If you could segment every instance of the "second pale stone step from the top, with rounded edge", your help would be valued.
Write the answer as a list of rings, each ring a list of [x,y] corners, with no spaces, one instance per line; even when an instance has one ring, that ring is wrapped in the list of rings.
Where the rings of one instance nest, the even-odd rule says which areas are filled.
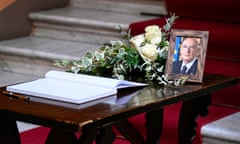
[[[29,14],[33,36],[103,44],[119,40],[119,26],[127,31],[130,23],[156,18],[139,14],[65,7]]]

